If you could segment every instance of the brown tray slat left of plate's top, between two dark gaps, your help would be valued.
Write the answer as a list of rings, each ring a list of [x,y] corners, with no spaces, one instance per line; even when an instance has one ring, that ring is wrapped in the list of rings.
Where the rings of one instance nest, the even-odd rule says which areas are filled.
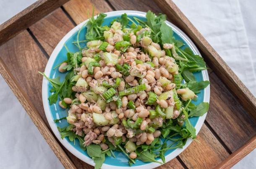
[[[74,25],[63,10],[58,8],[29,28],[47,54],[51,55],[55,46]]]

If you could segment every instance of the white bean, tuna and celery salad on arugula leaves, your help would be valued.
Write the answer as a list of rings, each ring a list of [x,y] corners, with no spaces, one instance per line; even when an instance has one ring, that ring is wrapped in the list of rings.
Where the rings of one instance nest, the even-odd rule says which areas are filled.
[[[39,72],[52,85],[50,105],[59,98],[59,106],[67,110],[64,118],[54,121],[68,122],[58,127],[62,139],[78,139],[95,169],[105,156],[115,158],[113,151],[122,151],[129,165],[136,160],[165,163],[167,150],[196,138],[189,117],[209,109],[209,103],[192,103],[209,85],[193,75],[206,64],[175,40],[166,15],[148,11],[146,20],[140,20],[124,13],[102,25],[106,16],[100,13],[82,26],[87,33],[79,40],[78,31],[76,53],[65,46],[67,59],[57,66],[66,73],[63,82]]]

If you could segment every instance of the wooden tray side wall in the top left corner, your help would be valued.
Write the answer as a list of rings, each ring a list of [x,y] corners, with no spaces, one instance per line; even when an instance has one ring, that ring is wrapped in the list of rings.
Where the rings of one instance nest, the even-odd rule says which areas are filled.
[[[0,45],[28,28],[68,0],[38,0],[0,25]]]

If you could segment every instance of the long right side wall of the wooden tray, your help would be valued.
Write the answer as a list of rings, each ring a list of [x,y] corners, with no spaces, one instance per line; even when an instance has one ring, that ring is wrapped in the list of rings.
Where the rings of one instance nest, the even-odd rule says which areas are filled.
[[[219,54],[212,48],[206,39],[199,33],[193,24],[185,17],[171,0],[154,0],[181,30],[183,30],[196,46],[201,50],[203,58],[210,68],[219,76],[230,91],[237,96],[243,107],[256,119],[256,98],[240,81],[235,73],[227,66]]]

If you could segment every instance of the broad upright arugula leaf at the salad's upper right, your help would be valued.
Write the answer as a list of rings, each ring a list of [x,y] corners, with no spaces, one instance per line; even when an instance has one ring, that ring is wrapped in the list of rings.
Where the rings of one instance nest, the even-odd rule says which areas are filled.
[[[174,43],[173,40],[173,32],[172,32],[172,28],[170,28],[170,26],[168,26],[165,22],[162,23],[161,27],[161,40],[162,40],[162,44],[164,43]]]

